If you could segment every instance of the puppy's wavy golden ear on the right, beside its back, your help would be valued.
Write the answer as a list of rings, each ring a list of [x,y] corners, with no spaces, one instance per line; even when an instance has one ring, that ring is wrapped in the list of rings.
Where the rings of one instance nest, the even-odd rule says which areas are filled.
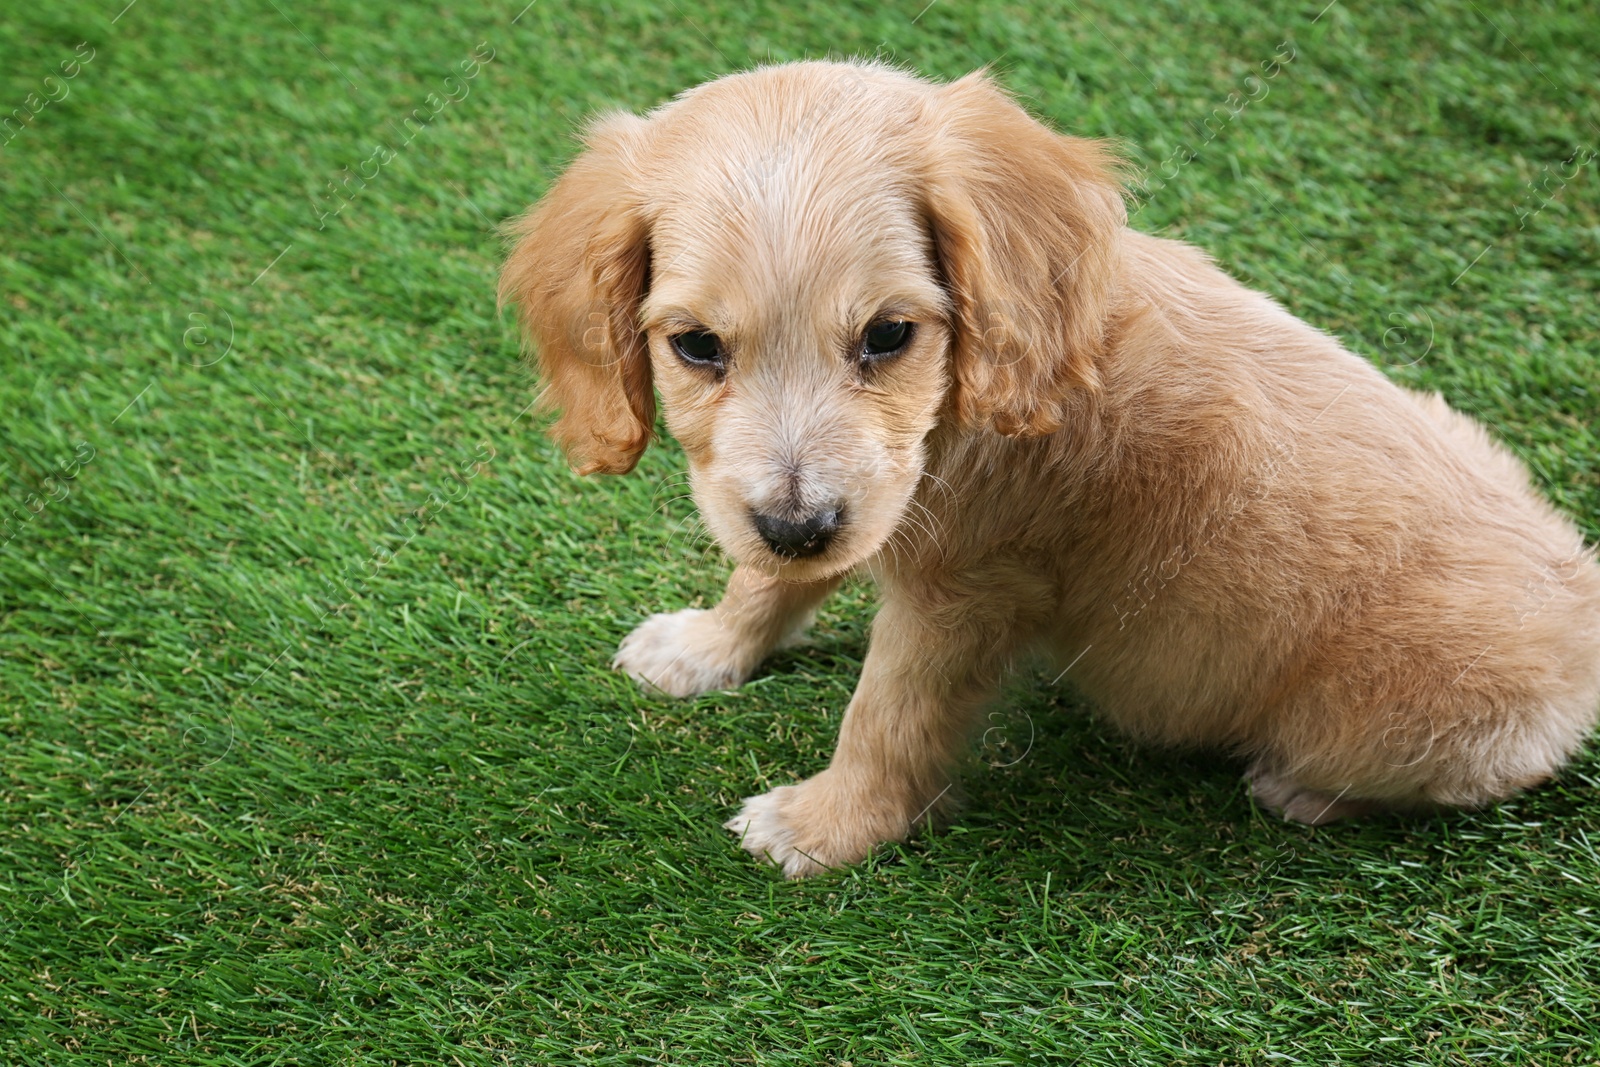
[[[1051,434],[1096,357],[1128,221],[1115,157],[1054,133],[982,72],[933,102],[926,203],[955,304],[952,405],[973,427]]]

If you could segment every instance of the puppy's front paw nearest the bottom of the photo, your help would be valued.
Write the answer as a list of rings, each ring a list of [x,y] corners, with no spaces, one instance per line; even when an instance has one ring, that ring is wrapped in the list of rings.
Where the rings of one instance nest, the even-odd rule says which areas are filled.
[[[784,877],[808,878],[866,859],[874,845],[904,841],[915,829],[907,806],[909,798],[894,789],[838,790],[824,771],[798,785],[746,797],[739,814],[723,827],[739,835],[744,851],[781,867]]]

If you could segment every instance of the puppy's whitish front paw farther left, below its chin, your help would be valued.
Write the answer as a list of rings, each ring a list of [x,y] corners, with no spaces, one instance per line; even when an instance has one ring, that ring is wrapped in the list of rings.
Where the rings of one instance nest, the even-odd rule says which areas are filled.
[[[736,635],[710,611],[653,614],[622,638],[611,665],[669,696],[731,689],[754,664],[738,654]]]

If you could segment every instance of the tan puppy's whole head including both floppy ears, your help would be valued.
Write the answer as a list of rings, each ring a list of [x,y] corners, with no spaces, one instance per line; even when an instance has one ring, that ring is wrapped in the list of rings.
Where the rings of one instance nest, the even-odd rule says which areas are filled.
[[[938,427],[1064,426],[1123,222],[1101,147],[982,75],[803,62],[590,126],[501,299],[579,472],[632,469],[659,390],[722,545],[805,581],[894,533]]]

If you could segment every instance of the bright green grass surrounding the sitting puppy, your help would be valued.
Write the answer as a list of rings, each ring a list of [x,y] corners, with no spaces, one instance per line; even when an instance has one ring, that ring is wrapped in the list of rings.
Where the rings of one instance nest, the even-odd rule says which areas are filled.
[[[494,314],[493,227],[592,110],[994,62],[1150,171],[1198,149],[1136,226],[1443,390],[1595,539],[1600,181],[1549,174],[1600,149],[1600,18],[1323,2],[13,5],[0,114],[67,93],[0,147],[0,1061],[1600,1056],[1594,747],[1312,830],[1022,678],[949,835],[755,867],[718,824],[822,766],[870,590],[736,693],[611,673],[726,568],[672,443],[566,472]]]

